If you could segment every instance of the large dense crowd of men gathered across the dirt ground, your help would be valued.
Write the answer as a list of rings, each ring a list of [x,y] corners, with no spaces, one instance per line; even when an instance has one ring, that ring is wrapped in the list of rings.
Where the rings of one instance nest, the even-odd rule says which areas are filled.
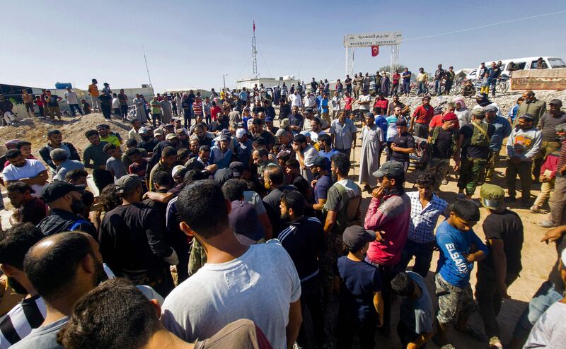
[[[328,81],[317,90],[314,78],[316,95],[294,86],[157,95],[136,104],[127,139],[108,124],[86,130],[82,154],[57,129],[41,160],[30,142],[8,141],[0,165],[15,212],[0,233],[9,302],[0,348],[351,348],[356,336],[374,348],[376,329],[387,338],[393,326],[403,348],[454,348],[453,330],[503,348],[497,314],[522,268],[524,227],[506,208],[517,176],[522,206],[541,212],[550,196],[540,224],[553,227],[543,240],[556,242],[558,259],[509,348],[562,345],[562,102],[527,91],[502,114],[486,94],[471,109],[456,97],[443,110],[425,96],[410,110],[398,95],[371,97],[363,81],[352,97],[348,79],[331,99]],[[111,118],[93,85],[92,108]],[[503,146],[507,193],[492,183]],[[411,164],[416,190],[406,189]],[[456,177],[447,202],[442,186]],[[535,182],[543,189],[532,203]],[[485,239],[473,230],[480,206]],[[468,324],[476,311],[484,329]]]

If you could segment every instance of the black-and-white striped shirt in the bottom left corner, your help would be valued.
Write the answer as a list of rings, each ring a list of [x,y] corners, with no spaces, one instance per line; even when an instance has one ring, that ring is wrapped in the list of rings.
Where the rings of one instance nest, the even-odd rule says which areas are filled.
[[[25,298],[0,322],[0,349],[9,348],[37,329],[45,319],[47,309],[40,295]]]

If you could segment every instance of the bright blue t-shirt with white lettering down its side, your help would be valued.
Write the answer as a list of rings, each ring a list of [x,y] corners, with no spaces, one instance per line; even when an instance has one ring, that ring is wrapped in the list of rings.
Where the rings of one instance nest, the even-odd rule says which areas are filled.
[[[473,263],[469,263],[463,254],[470,253],[472,244],[483,253],[489,253],[473,230],[463,232],[451,226],[448,220],[444,220],[437,227],[437,245],[440,249],[437,273],[440,273],[447,283],[458,288],[470,284]]]

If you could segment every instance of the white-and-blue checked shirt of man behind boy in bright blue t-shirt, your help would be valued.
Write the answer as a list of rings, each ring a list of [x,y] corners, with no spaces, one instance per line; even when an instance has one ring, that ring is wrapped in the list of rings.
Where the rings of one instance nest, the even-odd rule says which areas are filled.
[[[434,227],[437,226],[439,215],[444,215],[448,203],[432,194],[432,200],[423,208],[418,191],[411,191],[407,195],[411,199],[409,239],[418,244],[434,241]]]

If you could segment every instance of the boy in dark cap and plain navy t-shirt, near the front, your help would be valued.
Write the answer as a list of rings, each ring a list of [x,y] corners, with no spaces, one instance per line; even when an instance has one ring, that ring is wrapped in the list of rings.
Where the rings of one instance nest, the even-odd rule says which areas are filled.
[[[375,347],[376,326],[383,324],[383,297],[379,270],[364,261],[369,242],[376,233],[359,225],[347,227],[342,235],[348,249],[335,264],[335,290],[339,295],[337,348],[350,349],[354,333],[360,348]]]

